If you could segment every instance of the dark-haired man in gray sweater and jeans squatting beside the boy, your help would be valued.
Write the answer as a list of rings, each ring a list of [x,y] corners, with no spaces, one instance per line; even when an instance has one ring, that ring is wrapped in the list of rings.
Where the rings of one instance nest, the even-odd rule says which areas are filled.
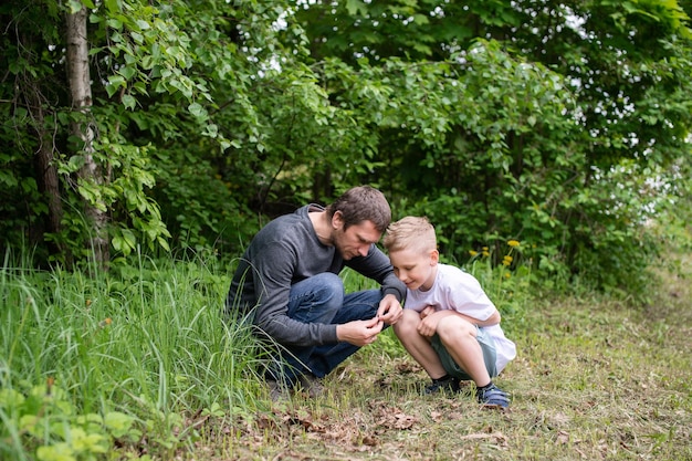
[[[298,383],[316,397],[321,378],[401,317],[406,285],[376,247],[390,221],[385,196],[360,186],[327,208],[307,205],[276,218],[250,242],[226,308],[254,307],[254,325],[279,345],[265,374],[272,399]],[[345,294],[344,266],[380,290]]]

